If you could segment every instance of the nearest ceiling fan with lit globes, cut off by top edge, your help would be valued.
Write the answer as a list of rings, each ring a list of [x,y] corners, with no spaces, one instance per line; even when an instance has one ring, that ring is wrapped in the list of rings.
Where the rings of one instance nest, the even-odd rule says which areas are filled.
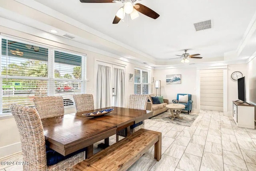
[[[137,18],[139,16],[139,13],[142,13],[150,18],[156,19],[160,15],[151,10],[150,8],[137,3],[135,4],[137,0],[80,0],[80,2],[84,3],[112,3],[112,2],[120,2],[123,4],[121,8],[116,13],[116,16],[113,20],[113,24],[118,24],[120,20],[123,20],[125,17],[125,14],[130,14],[130,17],[132,20]]]

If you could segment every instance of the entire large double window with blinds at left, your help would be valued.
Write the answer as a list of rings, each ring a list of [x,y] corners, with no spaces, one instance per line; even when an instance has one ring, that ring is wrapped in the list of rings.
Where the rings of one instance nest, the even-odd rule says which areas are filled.
[[[34,106],[36,96],[61,95],[65,106],[74,105],[72,95],[81,94],[85,87],[85,56],[8,38],[0,40],[0,114],[10,113],[12,103]]]

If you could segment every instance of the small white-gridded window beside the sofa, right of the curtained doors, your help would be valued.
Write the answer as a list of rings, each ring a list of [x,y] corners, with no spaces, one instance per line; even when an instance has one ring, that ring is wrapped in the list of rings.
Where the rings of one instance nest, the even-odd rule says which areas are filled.
[[[148,94],[149,93],[149,72],[134,69],[134,94]]]

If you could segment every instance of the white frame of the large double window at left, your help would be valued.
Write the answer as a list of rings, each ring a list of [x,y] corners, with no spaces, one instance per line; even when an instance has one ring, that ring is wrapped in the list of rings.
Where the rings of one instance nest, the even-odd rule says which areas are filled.
[[[47,77],[29,77],[29,76],[8,76],[8,75],[2,75],[2,72],[0,72],[0,93],[3,94],[3,79],[8,78],[8,79],[23,79],[23,80],[47,80],[48,81],[48,96],[53,96],[54,95],[54,81],[78,81],[81,82],[82,87],[81,87],[81,93],[86,93],[86,59],[87,56],[86,54],[82,54],[80,52],[74,52],[72,50],[66,50],[63,48],[59,48],[59,47],[55,47],[55,46],[50,46],[48,44],[42,44],[42,43],[38,43],[38,42],[33,42],[30,40],[22,40],[18,39],[18,38],[13,38],[13,37],[8,37],[8,36],[1,36],[0,35],[0,66],[2,66],[2,39],[6,39],[6,42],[8,41],[14,41],[14,42],[20,42],[20,43],[24,43],[24,44],[30,44],[30,45],[34,45],[34,46],[39,46],[42,48],[47,48],[48,49],[48,64],[47,64],[47,69],[48,69],[48,76]],[[81,68],[82,68],[82,75],[81,75],[81,79],[66,79],[66,78],[54,78],[54,51],[58,51],[58,52],[63,52],[63,53],[67,53],[67,54],[72,54],[72,55],[76,55],[76,56],[81,56],[82,57],[82,64],[81,64]],[[1,68],[2,71],[2,68]],[[0,119],[2,118],[6,118],[8,116],[11,115],[11,113],[2,113],[3,111],[3,96],[1,96],[0,98]],[[69,105],[69,106],[64,106],[65,108],[68,107],[74,107],[74,105]]]

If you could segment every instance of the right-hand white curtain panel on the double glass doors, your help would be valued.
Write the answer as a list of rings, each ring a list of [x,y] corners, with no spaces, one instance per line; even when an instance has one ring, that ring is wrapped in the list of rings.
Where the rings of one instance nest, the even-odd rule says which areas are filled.
[[[114,68],[114,106],[124,107],[124,70]]]

